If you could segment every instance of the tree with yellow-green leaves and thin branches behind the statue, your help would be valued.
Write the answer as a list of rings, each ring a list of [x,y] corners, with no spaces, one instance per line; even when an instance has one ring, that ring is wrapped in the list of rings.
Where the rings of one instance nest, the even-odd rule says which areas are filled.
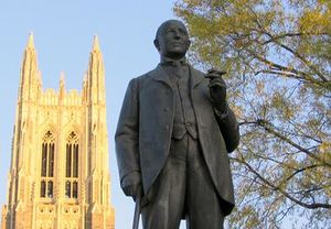
[[[174,12],[191,62],[227,72],[241,122],[229,228],[331,228],[331,1],[180,0]]]

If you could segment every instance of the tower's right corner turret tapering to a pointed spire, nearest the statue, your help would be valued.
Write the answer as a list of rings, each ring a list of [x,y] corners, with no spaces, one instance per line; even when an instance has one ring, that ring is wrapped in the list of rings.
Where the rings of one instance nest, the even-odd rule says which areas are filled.
[[[88,151],[90,155],[90,185],[104,184],[109,179],[108,171],[108,133],[106,120],[105,69],[103,54],[97,36],[94,36],[87,70],[87,109],[88,109]],[[102,150],[99,150],[102,149]],[[108,199],[108,190],[89,193],[93,211],[102,212],[102,206]]]

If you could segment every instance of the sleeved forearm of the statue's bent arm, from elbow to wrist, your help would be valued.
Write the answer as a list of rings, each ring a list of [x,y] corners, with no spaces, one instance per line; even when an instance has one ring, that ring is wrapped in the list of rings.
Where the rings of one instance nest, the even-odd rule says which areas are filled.
[[[220,112],[217,109],[215,109],[215,116],[226,144],[226,150],[228,153],[231,153],[239,144],[239,124],[234,112],[227,105],[225,112]]]

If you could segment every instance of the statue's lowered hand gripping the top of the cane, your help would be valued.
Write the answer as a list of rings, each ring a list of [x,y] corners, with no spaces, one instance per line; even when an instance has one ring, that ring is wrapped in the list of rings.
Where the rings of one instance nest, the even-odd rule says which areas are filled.
[[[141,174],[134,172],[124,177],[121,188],[124,193],[127,196],[131,196],[134,200],[136,200],[137,197],[140,198],[142,195]]]

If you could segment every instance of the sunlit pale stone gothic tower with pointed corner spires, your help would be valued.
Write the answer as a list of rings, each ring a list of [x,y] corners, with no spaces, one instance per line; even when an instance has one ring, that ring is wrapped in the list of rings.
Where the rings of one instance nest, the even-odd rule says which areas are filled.
[[[81,92],[42,89],[24,52],[1,229],[114,229],[103,55],[94,37]]]

